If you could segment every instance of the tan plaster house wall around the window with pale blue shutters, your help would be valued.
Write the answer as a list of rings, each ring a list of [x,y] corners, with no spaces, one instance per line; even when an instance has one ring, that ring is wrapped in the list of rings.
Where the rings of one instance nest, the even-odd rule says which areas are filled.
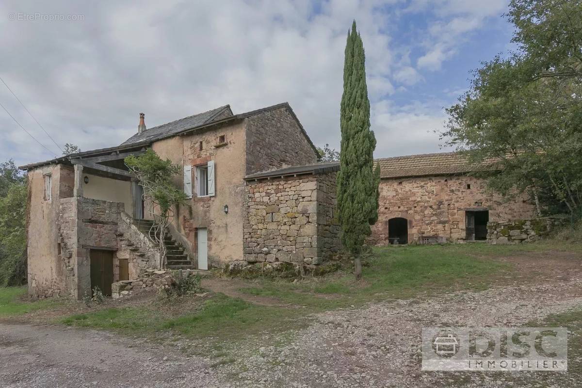
[[[225,136],[225,144],[219,137]],[[203,143],[200,149],[200,142]],[[179,165],[192,166],[193,198],[190,206],[182,206],[173,219],[173,226],[184,237],[178,239],[187,245],[190,257],[196,263],[196,232],[198,227],[208,228],[208,262],[220,266],[224,262],[243,257],[243,197],[245,175],[245,131],[239,122],[215,129],[194,131],[192,134],[173,137],[154,143],[154,151],[162,158]],[[214,161],[215,195],[197,197],[196,166]],[[183,187],[183,177],[176,177]],[[224,212],[228,205],[229,212]],[[179,237],[179,236],[176,236]]]

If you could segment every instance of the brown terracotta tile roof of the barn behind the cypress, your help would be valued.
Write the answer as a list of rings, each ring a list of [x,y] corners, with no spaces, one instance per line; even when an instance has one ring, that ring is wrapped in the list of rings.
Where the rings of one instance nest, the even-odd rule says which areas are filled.
[[[479,163],[470,163],[467,154],[459,152],[439,152],[438,154],[421,154],[395,156],[376,159],[380,165],[382,178],[409,176],[452,175],[494,170],[496,162],[492,159]]]

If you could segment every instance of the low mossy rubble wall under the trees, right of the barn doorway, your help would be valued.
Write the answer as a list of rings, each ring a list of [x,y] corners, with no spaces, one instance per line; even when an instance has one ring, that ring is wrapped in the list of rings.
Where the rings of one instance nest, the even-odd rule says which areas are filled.
[[[487,223],[487,242],[489,244],[520,244],[537,241],[564,223],[565,219],[561,217],[489,222]]]

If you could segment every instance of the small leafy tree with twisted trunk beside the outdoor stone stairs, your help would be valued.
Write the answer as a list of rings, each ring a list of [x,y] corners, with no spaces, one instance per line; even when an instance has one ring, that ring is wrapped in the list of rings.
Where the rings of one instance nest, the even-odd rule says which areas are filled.
[[[182,172],[182,167],[175,165],[169,159],[162,160],[153,149],[149,148],[140,156],[125,158],[126,166],[140,180],[144,198],[153,206],[151,213],[154,219],[151,233],[159,245],[159,268],[166,266],[166,245],[164,237],[170,218],[174,215],[172,207],[186,200],[186,194],[172,183],[172,177]]]

